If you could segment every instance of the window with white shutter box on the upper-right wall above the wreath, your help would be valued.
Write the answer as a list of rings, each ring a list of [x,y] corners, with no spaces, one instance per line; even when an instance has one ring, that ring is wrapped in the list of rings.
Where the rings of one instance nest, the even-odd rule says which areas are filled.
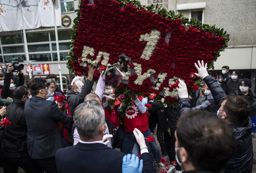
[[[204,23],[204,8],[206,7],[206,2],[201,3],[183,3],[177,4],[177,12],[182,13],[186,16],[188,20],[195,18],[196,20],[201,20]]]

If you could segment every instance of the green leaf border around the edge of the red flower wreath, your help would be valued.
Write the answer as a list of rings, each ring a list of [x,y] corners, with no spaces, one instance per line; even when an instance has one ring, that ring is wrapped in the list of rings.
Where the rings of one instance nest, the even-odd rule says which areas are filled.
[[[80,22],[80,18],[81,18],[81,14],[80,14],[81,0],[79,0],[79,1],[80,1],[80,3],[79,3],[79,9],[77,10],[77,17],[73,20],[73,27],[72,27],[72,31],[71,31],[71,45],[69,48],[70,51],[68,52],[68,56],[67,56],[67,60],[68,60],[67,68],[70,70],[70,72],[73,72],[74,74],[76,74],[76,71],[72,69],[73,66],[69,62],[76,61],[76,57],[74,56],[73,51],[74,51],[74,47],[75,47],[75,43],[76,43],[76,33],[78,32],[77,27],[79,26],[79,22]],[[171,11],[171,10],[168,12],[163,8],[158,8],[158,4],[154,8],[153,4],[151,4],[151,6],[141,5],[140,1],[138,1],[138,0],[116,0],[116,1],[119,3],[122,3],[123,7],[125,7],[128,3],[130,3],[132,6],[136,6],[137,10],[145,9],[146,11],[154,12],[156,14],[161,14],[162,17],[168,17],[170,20],[181,19],[182,24],[186,27],[193,26],[196,29],[199,29],[201,31],[206,31],[206,32],[212,33],[216,36],[223,37],[225,42],[222,45],[222,48],[215,52],[214,59],[210,63],[208,63],[208,69],[214,69],[214,62],[217,61],[218,57],[220,57],[220,52],[224,51],[224,49],[228,46],[228,41],[230,40],[230,38],[229,38],[230,35],[228,35],[227,31],[224,31],[224,29],[216,28],[215,25],[210,26],[207,24],[203,24],[201,22],[201,20],[195,20],[194,18],[192,18],[188,21],[188,20],[186,20],[186,17],[182,13],[175,14],[175,12]],[[201,79],[195,79],[194,82],[195,82],[195,84],[197,84],[199,86],[199,84],[201,84]],[[129,92],[132,92],[135,95],[145,96],[139,92],[128,90],[125,87],[123,87],[122,89],[119,87],[119,89],[116,89],[116,91],[115,91],[116,95],[123,94],[125,96],[128,96]],[[189,94],[192,94],[192,92],[194,92],[194,91],[191,90],[191,92],[189,92]],[[155,98],[155,100],[159,101],[159,102],[160,102],[160,99],[161,99],[160,96]],[[131,100],[126,98],[123,100],[123,104],[125,104],[126,106],[131,105]],[[175,101],[174,103],[168,103],[168,107],[175,107],[176,105],[177,105],[177,101]],[[122,109],[122,112],[124,112],[125,109]]]

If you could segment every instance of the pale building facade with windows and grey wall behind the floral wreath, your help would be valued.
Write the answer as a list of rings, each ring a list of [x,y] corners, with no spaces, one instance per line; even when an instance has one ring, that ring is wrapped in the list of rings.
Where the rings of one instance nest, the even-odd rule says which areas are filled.
[[[158,4],[166,10],[182,12],[188,19],[195,18],[209,25],[227,30],[229,46],[215,62],[211,73],[216,78],[221,67],[238,69],[241,78],[251,78],[255,90],[256,78],[256,1],[255,0],[140,0],[143,5]],[[58,27],[61,72],[68,74],[66,56],[70,46],[70,31],[76,17],[79,0],[61,0],[62,26]],[[57,49],[54,28],[26,31],[29,58],[33,75],[44,75],[45,64],[49,73],[58,74]],[[26,64],[23,33],[0,32],[0,62],[20,61]],[[41,73],[36,74],[36,66]],[[26,69],[24,69],[26,73]]]

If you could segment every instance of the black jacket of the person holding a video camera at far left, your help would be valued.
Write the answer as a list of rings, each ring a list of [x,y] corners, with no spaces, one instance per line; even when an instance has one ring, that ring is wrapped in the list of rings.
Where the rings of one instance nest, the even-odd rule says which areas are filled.
[[[2,98],[13,98],[13,91],[10,90],[10,84],[11,84],[11,73],[6,73],[4,77],[4,82],[3,82],[3,89],[1,92]],[[16,87],[18,86],[23,86],[24,85],[24,75],[23,73],[19,73],[18,75],[18,83],[16,84]]]

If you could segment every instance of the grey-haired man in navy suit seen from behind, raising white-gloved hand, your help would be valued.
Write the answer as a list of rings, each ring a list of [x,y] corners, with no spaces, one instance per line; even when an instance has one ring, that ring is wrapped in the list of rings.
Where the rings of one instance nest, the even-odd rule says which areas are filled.
[[[105,112],[96,100],[78,105],[74,112],[74,124],[80,141],[73,147],[60,149],[56,153],[58,173],[122,173],[124,153],[107,147],[102,138],[106,131]],[[141,149],[143,173],[153,173],[152,157],[148,153],[145,139],[140,131],[135,136]]]

